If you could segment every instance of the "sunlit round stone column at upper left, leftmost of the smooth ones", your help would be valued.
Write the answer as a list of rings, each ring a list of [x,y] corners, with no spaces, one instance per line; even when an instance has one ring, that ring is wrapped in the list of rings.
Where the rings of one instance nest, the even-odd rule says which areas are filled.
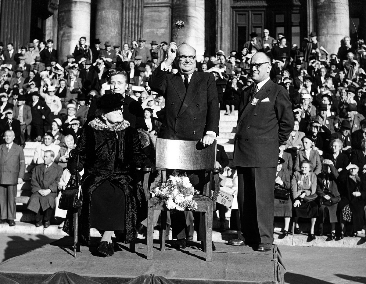
[[[59,63],[74,52],[80,37],[90,44],[90,0],[60,0],[57,52]]]

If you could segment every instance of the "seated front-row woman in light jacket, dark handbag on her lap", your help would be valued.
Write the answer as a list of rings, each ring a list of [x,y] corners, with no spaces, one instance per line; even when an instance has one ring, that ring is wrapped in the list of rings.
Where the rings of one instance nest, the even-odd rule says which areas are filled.
[[[310,240],[315,240],[314,226],[318,216],[317,176],[310,171],[310,163],[303,160],[300,171],[294,172],[291,180],[291,198],[294,201],[292,216],[295,217],[295,234],[300,234],[299,217],[311,218]]]

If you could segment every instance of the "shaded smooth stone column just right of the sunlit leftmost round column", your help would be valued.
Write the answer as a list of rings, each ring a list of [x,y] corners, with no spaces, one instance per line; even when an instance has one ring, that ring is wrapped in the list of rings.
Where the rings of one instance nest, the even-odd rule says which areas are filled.
[[[121,0],[98,0],[96,13],[96,39],[102,42],[109,41],[112,44],[121,44],[122,25]]]

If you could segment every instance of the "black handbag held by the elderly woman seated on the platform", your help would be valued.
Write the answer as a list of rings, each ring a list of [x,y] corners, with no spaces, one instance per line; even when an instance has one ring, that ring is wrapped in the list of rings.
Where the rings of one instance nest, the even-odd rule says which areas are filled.
[[[65,190],[61,193],[59,208],[63,210],[80,209],[83,205],[83,193],[79,173],[72,175]]]

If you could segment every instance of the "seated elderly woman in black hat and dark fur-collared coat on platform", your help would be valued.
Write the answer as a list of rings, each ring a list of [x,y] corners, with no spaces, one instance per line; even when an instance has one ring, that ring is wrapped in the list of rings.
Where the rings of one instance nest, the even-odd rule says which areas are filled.
[[[126,90],[126,80],[120,84]],[[123,119],[124,105],[120,93],[98,99],[96,117],[83,129],[67,163],[71,174],[85,171],[79,241],[90,245],[90,228],[96,228],[102,235],[97,250],[104,256],[113,255],[113,232],[124,243],[135,239],[136,224],[146,218],[146,203],[134,169],[154,167],[143,154],[137,130]],[[72,210],[67,213],[63,230],[73,234]]]

